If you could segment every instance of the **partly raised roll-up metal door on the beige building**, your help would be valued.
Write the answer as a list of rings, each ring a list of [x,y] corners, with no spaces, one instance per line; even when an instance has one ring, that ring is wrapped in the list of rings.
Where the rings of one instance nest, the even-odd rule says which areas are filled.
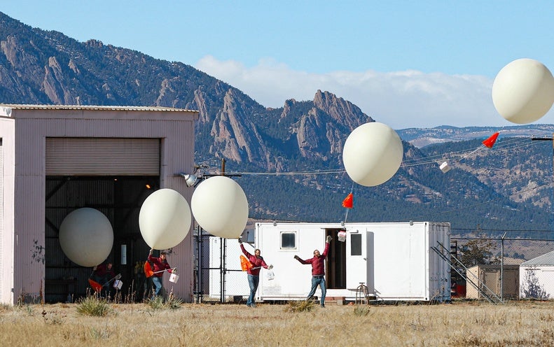
[[[160,139],[47,138],[47,176],[158,176]]]

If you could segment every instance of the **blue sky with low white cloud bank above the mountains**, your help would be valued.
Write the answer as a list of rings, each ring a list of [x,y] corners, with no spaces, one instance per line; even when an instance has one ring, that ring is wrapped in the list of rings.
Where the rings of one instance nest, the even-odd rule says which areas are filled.
[[[514,125],[492,104],[498,71],[523,57],[554,69],[554,1],[20,0],[0,11],[190,64],[267,107],[327,90],[394,129]]]

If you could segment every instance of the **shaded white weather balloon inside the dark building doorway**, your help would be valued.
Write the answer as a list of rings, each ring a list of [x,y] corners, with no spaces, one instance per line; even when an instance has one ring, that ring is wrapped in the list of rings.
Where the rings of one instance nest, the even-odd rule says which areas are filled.
[[[60,225],[60,246],[75,264],[95,267],[110,255],[113,246],[111,223],[95,208],[78,208]]]

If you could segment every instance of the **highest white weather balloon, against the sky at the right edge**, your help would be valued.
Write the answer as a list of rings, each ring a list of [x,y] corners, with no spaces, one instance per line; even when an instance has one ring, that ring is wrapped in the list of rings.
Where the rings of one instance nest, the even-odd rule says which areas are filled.
[[[502,68],[492,84],[492,103],[506,120],[527,124],[539,120],[554,102],[554,78],[541,62],[516,59]]]

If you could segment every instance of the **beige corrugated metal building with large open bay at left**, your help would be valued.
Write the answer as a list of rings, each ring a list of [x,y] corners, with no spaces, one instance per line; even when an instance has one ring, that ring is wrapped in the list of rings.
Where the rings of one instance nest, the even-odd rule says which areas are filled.
[[[194,169],[198,111],[127,106],[0,104],[0,302],[64,302],[83,296],[91,268],[60,247],[64,217],[91,207],[109,218],[109,260],[124,295],[141,295],[137,262],[149,247],[138,215],[144,199],[171,188],[191,201],[180,172]],[[193,295],[191,232],[168,255],[178,283],[165,287],[186,302]]]

